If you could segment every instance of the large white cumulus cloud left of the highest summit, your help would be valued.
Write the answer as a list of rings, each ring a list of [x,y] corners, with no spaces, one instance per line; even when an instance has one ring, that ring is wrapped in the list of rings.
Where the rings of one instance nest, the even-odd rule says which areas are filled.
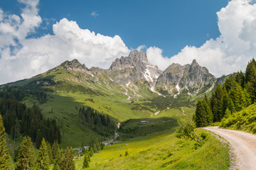
[[[0,84],[30,78],[75,58],[87,67],[106,69],[115,58],[129,53],[118,35],[95,34],[66,18],[53,25],[53,35],[27,38],[42,22],[39,1],[19,2],[26,5],[21,17],[0,10]]]

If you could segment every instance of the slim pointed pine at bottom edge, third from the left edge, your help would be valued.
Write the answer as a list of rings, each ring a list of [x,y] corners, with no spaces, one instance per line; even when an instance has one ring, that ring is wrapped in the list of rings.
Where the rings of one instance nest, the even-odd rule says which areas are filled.
[[[46,140],[43,138],[36,160],[36,169],[49,169],[49,164],[48,147]]]

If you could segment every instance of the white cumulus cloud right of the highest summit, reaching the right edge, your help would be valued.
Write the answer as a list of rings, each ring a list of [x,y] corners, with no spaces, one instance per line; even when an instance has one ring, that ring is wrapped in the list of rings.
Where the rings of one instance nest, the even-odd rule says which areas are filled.
[[[256,4],[250,0],[229,1],[228,6],[217,13],[220,36],[206,41],[201,47],[186,46],[173,57],[162,56],[158,47],[149,47],[149,62],[161,69],[175,62],[191,63],[196,59],[212,74],[220,77],[240,70],[256,54]]]

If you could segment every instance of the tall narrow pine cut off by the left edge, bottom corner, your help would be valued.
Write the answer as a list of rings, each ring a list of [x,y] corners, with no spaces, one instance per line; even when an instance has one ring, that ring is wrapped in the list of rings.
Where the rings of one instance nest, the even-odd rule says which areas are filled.
[[[5,129],[2,117],[0,115],[0,169],[10,169],[9,167],[9,149],[6,147]]]

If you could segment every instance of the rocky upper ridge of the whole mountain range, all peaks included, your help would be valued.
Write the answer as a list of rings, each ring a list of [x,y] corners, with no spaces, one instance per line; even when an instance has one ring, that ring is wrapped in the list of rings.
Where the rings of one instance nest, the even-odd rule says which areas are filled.
[[[64,72],[68,74],[65,75]],[[47,80],[43,81],[43,79]],[[142,93],[142,89],[159,96],[196,95],[200,91],[212,90],[216,79],[196,60],[183,66],[171,64],[163,72],[156,65],[149,63],[144,51],[133,50],[129,56],[117,58],[109,69],[98,67],[88,69],[78,60],[65,61],[58,67],[23,82],[34,85],[40,85],[41,82],[41,85],[49,86],[51,83],[67,81],[87,86],[95,92],[101,91],[95,85],[110,91],[116,91],[118,88],[120,93],[128,98],[138,98],[146,95]]]

